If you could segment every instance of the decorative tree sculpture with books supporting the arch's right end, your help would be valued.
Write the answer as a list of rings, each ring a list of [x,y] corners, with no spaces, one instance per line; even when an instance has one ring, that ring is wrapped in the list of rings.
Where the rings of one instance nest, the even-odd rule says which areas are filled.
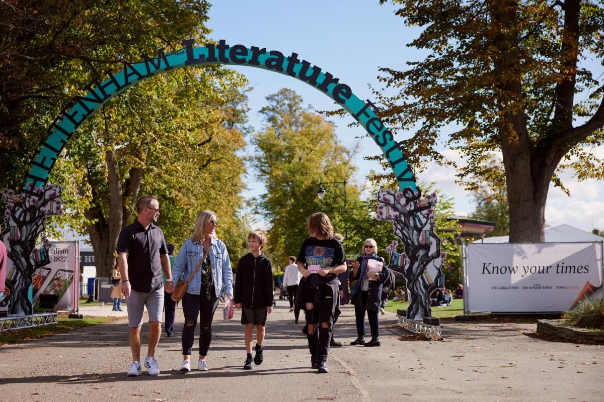
[[[396,193],[379,190],[376,216],[378,220],[393,222],[394,235],[402,242],[403,252],[400,254],[396,253],[399,245],[396,240],[388,246],[388,265],[405,277],[411,298],[407,318],[416,320],[432,316],[430,295],[443,287],[442,263],[445,258],[440,253],[440,238],[434,233],[436,193],[420,198],[420,192],[409,188]],[[433,275],[429,274],[429,269],[434,270]]]

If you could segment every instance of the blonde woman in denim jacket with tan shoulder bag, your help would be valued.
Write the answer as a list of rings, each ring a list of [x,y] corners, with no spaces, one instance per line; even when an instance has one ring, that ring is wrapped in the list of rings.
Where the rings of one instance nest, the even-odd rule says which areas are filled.
[[[233,271],[225,243],[216,238],[216,213],[202,211],[195,220],[193,235],[184,242],[172,267],[172,277],[186,280],[199,265],[205,251],[209,256],[199,267],[188,284],[182,298],[185,325],[182,328],[181,371],[191,371],[191,350],[195,338],[195,326],[199,316],[199,371],[208,371],[205,356],[212,341],[212,319],[222,294],[233,295]],[[184,274],[184,275],[183,275]],[[172,291],[172,283],[166,283],[166,291]]]

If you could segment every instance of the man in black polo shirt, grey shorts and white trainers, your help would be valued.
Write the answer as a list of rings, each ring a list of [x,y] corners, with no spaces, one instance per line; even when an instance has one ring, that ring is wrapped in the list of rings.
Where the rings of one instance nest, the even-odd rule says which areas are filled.
[[[121,273],[121,291],[127,298],[128,326],[132,365],[128,375],[141,374],[141,325],[144,307],[149,312],[149,349],[145,367],[150,375],[159,375],[155,348],[161,335],[161,314],[164,307],[164,280],[172,278],[170,259],[164,233],[153,223],[159,217],[159,202],[154,196],[137,199],[137,219],[120,232],[117,251]]]

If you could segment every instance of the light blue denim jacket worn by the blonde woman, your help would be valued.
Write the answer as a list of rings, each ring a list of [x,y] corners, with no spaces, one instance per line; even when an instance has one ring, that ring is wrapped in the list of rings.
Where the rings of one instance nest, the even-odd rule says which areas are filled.
[[[204,256],[204,246],[201,242],[193,242],[189,237],[182,244],[181,249],[176,256],[176,263],[172,267],[172,277],[187,280],[194,269],[197,268],[199,261]],[[210,263],[212,266],[212,281],[216,296],[223,292],[233,294],[233,270],[228,258],[225,243],[222,240],[212,237],[210,248]],[[184,275],[183,275],[184,274]],[[195,272],[195,276],[188,284],[187,293],[199,295],[201,292],[201,269]]]

